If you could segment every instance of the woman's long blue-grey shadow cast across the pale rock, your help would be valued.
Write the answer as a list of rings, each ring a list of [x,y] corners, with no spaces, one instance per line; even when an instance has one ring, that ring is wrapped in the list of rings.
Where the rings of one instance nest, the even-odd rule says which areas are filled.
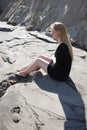
[[[41,89],[58,95],[65,113],[64,130],[86,130],[84,102],[71,78],[58,82],[38,72],[34,81]]]

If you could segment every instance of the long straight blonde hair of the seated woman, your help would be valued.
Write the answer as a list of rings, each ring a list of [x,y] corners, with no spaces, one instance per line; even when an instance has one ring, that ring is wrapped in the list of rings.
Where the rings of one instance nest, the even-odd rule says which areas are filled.
[[[64,42],[65,44],[67,44],[71,59],[73,60],[72,45],[71,45],[71,42],[69,40],[67,29],[66,29],[65,25],[61,22],[54,22],[53,24],[51,24],[51,29],[54,29],[55,31],[60,32],[60,40],[62,42]]]

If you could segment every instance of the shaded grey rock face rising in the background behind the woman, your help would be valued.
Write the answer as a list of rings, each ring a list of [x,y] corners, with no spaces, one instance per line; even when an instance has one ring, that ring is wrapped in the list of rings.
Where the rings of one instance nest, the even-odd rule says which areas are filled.
[[[0,0],[0,20],[44,31],[62,21],[74,45],[87,50],[87,0]]]

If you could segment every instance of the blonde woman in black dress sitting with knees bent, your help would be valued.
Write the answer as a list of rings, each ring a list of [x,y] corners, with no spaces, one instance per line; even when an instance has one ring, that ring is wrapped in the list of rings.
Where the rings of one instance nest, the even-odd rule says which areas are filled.
[[[18,76],[26,77],[33,71],[42,68],[48,75],[57,81],[65,81],[69,77],[71,70],[73,51],[67,35],[67,29],[61,22],[51,25],[52,37],[59,42],[55,51],[55,63],[52,58],[39,56],[33,63],[20,69]]]

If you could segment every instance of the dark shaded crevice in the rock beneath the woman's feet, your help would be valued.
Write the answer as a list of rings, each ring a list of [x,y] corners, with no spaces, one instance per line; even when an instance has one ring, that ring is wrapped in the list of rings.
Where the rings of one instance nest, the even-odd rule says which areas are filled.
[[[17,83],[32,82],[32,80],[33,80],[33,75],[28,75],[27,77],[23,78],[23,77],[16,76],[14,73],[8,74],[7,79],[0,82],[0,98],[5,94],[6,90],[11,85],[14,85]]]

